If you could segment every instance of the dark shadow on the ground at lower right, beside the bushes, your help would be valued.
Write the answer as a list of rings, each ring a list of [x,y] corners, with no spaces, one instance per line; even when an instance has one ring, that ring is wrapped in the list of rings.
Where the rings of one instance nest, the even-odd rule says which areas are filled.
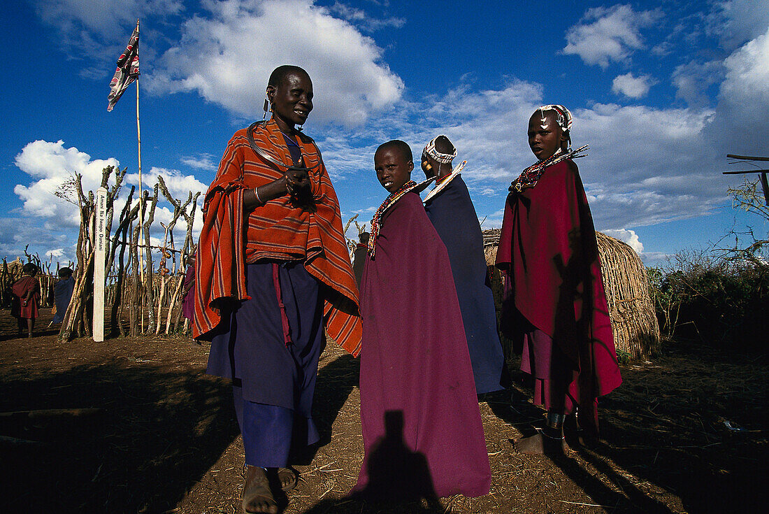
[[[767,505],[765,372],[741,355],[684,343],[676,352],[659,356],[661,365],[624,368],[623,386],[599,399],[601,441],[551,461],[611,512],[674,512],[664,503],[666,492],[679,496],[687,512]],[[544,411],[529,401],[524,376],[515,378],[509,400],[493,393],[488,403],[531,436],[534,426],[544,426]],[[727,418],[741,428],[728,429]]]

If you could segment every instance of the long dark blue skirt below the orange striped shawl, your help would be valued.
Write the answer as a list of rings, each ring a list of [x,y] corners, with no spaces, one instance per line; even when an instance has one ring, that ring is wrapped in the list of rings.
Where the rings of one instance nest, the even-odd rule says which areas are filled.
[[[210,375],[233,380],[235,409],[251,466],[286,466],[291,445],[318,441],[312,398],[325,346],[320,284],[299,262],[278,265],[288,319],[286,344],[273,264],[246,265],[250,300],[222,308],[211,339]],[[305,428],[296,432],[297,425]],[[303,434],[296,440],[292,433]]]

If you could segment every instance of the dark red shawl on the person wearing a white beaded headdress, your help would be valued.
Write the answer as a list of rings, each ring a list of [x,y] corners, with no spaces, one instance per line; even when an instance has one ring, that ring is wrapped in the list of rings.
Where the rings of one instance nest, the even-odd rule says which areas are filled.
[[[594,376],[596,396],[619,386],[598,243],[573,161],[549,166],[535,187],[508,196],[496,264],[515,307]]]

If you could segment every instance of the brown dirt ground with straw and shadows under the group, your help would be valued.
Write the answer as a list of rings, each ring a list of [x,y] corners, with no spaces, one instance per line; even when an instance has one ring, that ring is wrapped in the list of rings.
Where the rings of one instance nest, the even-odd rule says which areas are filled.
[[[5,512],[240,512],[243,446],[228,384],[183,339],[60,343],[38,319],[18,339],[0,311],[0,456]],[[625,365],[601,402],[603,439],[562,459],[512,441],[541,425],[516,383],[481,402],[491,493],[440,503],[346,498],[362,459],[358,362],[329,347],[288,513],[752,512],[767,505],[769,363],[691,342]],[[79,409],[27,414],[38,409]],[[87,409],[87,410],[85,410]],[[15,412],[15,414],[10,414]]]

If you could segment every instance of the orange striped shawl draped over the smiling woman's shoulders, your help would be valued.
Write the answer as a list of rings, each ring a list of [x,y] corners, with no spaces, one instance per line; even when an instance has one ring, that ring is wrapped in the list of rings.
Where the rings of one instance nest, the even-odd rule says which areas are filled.
[[[342,232],[339,202],[315,142],[303,134],[300,138],[305,165],[311,168],[317,210],[305,212],[293,207],[288,196],[281,196],[254,209],[247,219],[243,214],[245,188],[280,179],[283,171],[256,155],[248,145],[246,129],[230,139],[203,203],[203,229],[195,262],[194,337],[218,325],[218,302],[222,299],[249,299],[246,263],[279,259],[304,262],[308,272],[326,286],[321,290],[328,335],[351,354],[360,352],[358,286]],[[273,120],[259,126],[254,139],[278,161],[291,163],[283,135]]]

